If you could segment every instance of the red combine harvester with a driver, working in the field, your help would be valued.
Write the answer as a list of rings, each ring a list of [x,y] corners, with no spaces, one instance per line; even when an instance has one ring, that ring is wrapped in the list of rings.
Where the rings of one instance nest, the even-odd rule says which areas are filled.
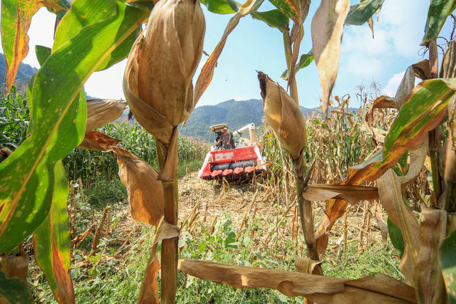
[[[220,124],[209,127],[217,135],[216,145],[213,145],[207,153],[198,177],[207,180],[217,179],[219,182],[223,178],[229,182],[245,182],[252,180],[255,175],[265,172],[266,163],[261,156],[255,125],[251,123],[233,132],[229,149],[224,149],[222,143],[217,145],[225,127],[228,125]],[[234,136],[240,136],[247,130],[249,130],[250,140],[241,138],[239,142],[235,142]]]

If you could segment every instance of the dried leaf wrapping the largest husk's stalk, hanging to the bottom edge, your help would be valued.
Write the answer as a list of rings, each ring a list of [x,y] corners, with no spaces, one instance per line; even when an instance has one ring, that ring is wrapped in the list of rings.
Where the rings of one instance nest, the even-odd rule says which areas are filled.
[[[159,241],[176,238],[177,236],[179,236],[179,227],[168,224],[162,217],[157,224],[157,229],[152,239],[152,251],[142,279],[138,303],[160,303],[157,285],[157,273],[160,270],[160,263],[157,259],[157,245]]]

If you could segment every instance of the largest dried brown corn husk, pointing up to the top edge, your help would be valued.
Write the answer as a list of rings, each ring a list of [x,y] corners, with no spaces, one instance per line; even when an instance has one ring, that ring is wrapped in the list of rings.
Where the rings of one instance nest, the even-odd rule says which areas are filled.
[[[199,1],[162,0],[128,56],[123,89],[136,120],[167,145],[193,108],[205,31]]]

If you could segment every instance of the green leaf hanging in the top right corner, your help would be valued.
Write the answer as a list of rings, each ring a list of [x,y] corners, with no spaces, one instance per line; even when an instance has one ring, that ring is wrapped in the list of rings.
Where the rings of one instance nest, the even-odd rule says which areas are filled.
[[[422,45],[439,36],[443,24],[456,8],[455,0],[431,0],[429,10],[427,11],[427,19],[425,25],[425,36],[423,37]]]

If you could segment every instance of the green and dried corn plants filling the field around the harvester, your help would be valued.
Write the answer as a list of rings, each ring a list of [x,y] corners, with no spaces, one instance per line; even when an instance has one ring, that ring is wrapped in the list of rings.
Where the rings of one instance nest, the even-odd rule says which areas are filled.
[[[56,14],[56,27],[52,48],[36,47],[41,68],[28,83],[26,99],[11,91],[2,100],[1,140],[12,150],[1,147],[0,302],[34,300],[25,243],[33,248],[54,299],[75,303],[71,248],[96,224],[71,238],[71,219],[83,209],[76,205],[68,179],[96,181],[99,174],[110,179],[117,171],[128,192],[131,219],[155,227],[152,238],[141,240],[152,250],[143,261],[145,271],[134,299],[138,303],[176,303],[181,276],[240,289],[276,290],[286,297],[303,297],[306,303],[455,303],[456,41],[437,45],[455,1],[430,1],[421,41],[427,58],[410,63],[394,97],[374,90],[368,98],[360,90],[361,108],[353,113],[348,110],[351,96],[332,94],[344,26],[368,23],[373,31],[373,17],[381,14],[384,1],[351,5],[348,0],[321,0],[311,17],[313,48],[301,55],[310,0],[270,0],[276,8],[271,11],[261,11],[263,0],[202,1],[212,14],[232,17],[195,75],[206,34],[199,1],[1,0],[8,90],[28,53],[31,17],[46,7]],[[291,237],[282,236],[295,243],[293,251],[286,251],[295,268],[286,270],[242,261],[233,265],[229,248],[237,246],[237,236],[230,219],[217,217],[212,224],[199,222],[199,235],[206,229],[212,234],[206,245],[199,242],[200,254],[180,255],[186,243],[192,246],[189,240],[197,232],[192,225],[201,211],[197,204],[182,219],[179,164],[207,149],[182,140],[180,125],[210,85],[230,33],[248,15],[283,37],[286,67],[281,78],[286,89],[261,72],[266,66],[258,67],[257,77],[267,120],[263,147],[270,160],[260,196],[278,212],[275,231],[270,227],[261,241],[266,248],[278,248],[281,227],[291,226]],[[86,100],[83,85],[88,77],[124,58],[126,102]],[[306,120],[299,110],[296,73],[313,62],[321,84],[321,112]],[[415,79],[420,80],[416,86]],[[108,125],[127,107],[138,124]],[[257,192],[241,229],[256,216]],[[318,201],[324,202],[324,211],[316,221]],[[389,238],[398,253],[400,279],[382,273],[356,279],[324,273],[331,230],[343,221],[346,244],[347,214],[356,206],[363,209],[360,247],[367,243],[372,214],[382,238]],[[103,211],[84,263],[100,263],[109,209]],[[291,221],[279,219],[280,212],[285,217],[291,210]],[[109,228],[103,234],[108,236]],[[242,240],[249,246],[245,234]],[[99,244],[103,251],[96,253]],[[223,263],[219,256],[205,254],[204,246],[219,245],[225,250]]]

